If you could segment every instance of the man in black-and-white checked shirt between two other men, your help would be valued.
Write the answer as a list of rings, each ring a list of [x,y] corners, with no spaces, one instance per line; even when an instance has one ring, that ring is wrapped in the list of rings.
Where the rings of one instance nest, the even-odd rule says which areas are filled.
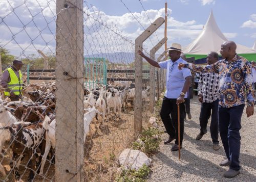
[[[216,52],[210,52],[207,55],[207,64],[211,65],[219,60]],[[207,133],[207,123],[211,115],[210,136],[214,144],[214,150],[219,150],[219,121],[218,121],[218,103],[219,103],[219,74],[215,72],[201,72],[198,82],[198,100],[201,102],[200,112],[200,133],[196,140],[200,140]]]

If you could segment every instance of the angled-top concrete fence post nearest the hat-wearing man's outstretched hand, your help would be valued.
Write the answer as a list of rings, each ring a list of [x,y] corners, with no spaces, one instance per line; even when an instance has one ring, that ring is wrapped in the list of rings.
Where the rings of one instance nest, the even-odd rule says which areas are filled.
[[[135,40],[135,98],[134,98],[134,132],[135,138],[142,131],[142,57],[137,50],[142,50],[143,42],[150,37],[162,24],[164,19],[157,18],[139,37]]]

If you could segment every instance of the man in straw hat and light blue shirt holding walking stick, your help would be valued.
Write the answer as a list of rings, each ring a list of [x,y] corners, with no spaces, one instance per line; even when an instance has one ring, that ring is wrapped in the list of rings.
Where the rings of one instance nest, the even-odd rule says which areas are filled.
[[[191,72],[189,69],[178,69],[179,63],[187,63],[181,55],[181,45],[173,43],[167,49],[170,59],[163,62],[156,62],[151,58],[145,56],[142,51],[138,50],[137,53],[142,56],[148,63],[157,68],[166,69],[166,91],[164,94],[160,116],[163,121],[169,138],[164,141],[164,144],[172,142],[174,139],[175,144],[172,146],[172,151],[179,150],[178,147],[178,105],[180,106],[180,144],[182,148],[183,134],[184,134],[184,98],[187,97],[187,91],[191,83]],[[171,116],[171,117],[170,117]]]

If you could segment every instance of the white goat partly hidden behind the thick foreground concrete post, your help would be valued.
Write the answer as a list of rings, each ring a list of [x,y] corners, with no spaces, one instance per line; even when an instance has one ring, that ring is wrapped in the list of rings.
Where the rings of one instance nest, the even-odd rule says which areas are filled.
[[[91,124],[93,118],[96,116],[96,114],[102,114],[95,107],[86,109],[86,111],[88,111],[88,113],[83,115],[83,131],[84,131],[83,143],[86,142],[86,136],[90,131],[90,124]],[[50,151],[51,146],[53,148],[56,147],[56,138],[55,138],[56,119],[54,119],[50,124],[49,124],[49,122],[50,122],[50,118],[48,116],[46,116],[45,120],[42,124],[42,126],[47,130],[47,132],[46,132],[46,149],[45,149],[45,153],[42,157],[42,163],[41,163],[39,175],[42,175],[44,173],[44,166],[46,163],[46,158]]]

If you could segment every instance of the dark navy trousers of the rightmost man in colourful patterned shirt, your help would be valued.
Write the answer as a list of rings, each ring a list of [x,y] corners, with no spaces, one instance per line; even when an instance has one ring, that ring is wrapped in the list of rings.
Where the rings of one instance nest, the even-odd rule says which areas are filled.
[[[241,118],[244,105],[231,108],[219,108],[220,136],[227,159],[231,161],[230,169],[240,170],[239,155],[241,145]]]

